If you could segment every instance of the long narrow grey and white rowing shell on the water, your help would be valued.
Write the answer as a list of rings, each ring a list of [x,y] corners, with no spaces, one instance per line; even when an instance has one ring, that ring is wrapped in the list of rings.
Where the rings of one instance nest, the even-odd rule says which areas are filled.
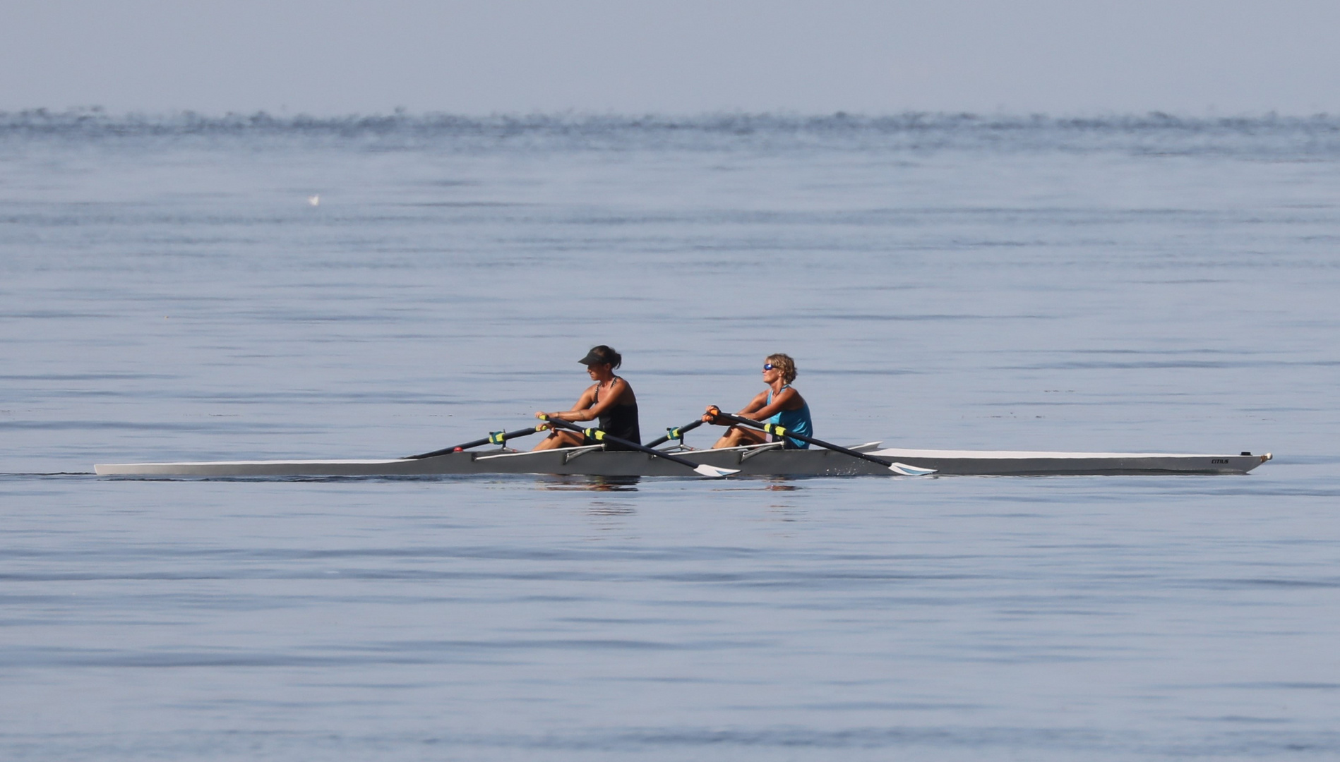
[[[851,447],[906,466],[907,474],[937,475],[1099,475],[1099,474],[1245,474],[1270,454],[1207,455],[1170,453],[1030,453],[994,450],[879,449],[879,442]],[[783,450],[780,442],[666,454],[694,463],[738,469],[737,475],[851,477],[896,475],[888,467],[823,449]],[[386,461],[216,461],[194,463],[110,463],[100,475],[123,477],[413,477],[450,474],[574,474],[595,477],[685,477],[693,471],[674,461],[638,451],[606,451],[603,445],[539,450],[446,451],[431,457]]]

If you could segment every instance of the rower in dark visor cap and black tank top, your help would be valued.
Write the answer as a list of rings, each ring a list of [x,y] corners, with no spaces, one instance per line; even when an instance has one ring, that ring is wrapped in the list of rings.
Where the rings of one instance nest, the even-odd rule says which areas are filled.
[[[592,421],[599,418],[599,429],[606,434],[642,443],[642,431],[638,429],[638,398],[632,394],[628,382],[614,375],[614,368],[623,363],[619,352],[600,344],[591,347],[587,356],[579,360],[591,374],[595,386],[582,392],[582,398],[572,406],[572,410],[563,412],[536,412],[536,418],[557,418],[560,421]],[[567,429],[551,429],[536,450],[553,450],[555,447],[576,447],[579,445],[600,445],[594,439],[583,437],[578,431]],[[614,442],[604,442],[606,450],[620,450]]]

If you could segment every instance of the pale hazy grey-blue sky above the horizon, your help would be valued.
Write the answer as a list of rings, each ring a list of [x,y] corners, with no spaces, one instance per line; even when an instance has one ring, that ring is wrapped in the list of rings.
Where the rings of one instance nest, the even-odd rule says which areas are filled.
[[[3,0],[0,110],[1340,112],[1340,0]]]

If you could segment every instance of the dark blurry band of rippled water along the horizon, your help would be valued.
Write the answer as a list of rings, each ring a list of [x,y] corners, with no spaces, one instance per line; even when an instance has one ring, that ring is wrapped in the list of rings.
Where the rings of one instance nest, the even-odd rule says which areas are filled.
[[[276,115],[267,111],[252,114],[202,114],[177,111],[170,114],[126,112],[113,114],[102,108],[29,108],[0,111],[0,137],[225,137],[225,135],[308,135],[328,138],[406,138],[414,141],[433,138],[559,138],[618,141],[622,137],[655,137],[657,145],[666,141],[706,137],[713,139],[776,137],[784,141],[803,141],[821,145],[827,139],[858,137],[892,139],[913,147],[951,147],[973,145],[982,139],[992,142],[1029,143],[1029,135],[1045,135],[1045,145],[1057,139],[1158,137],[1160,139],[1217,138],[1306,139],[1312,149],[1325,153],[1340,145],[1340,115],[1240,115],[1190,117],[1162,111],[1146,114],[1108,114],[1091,117],[1051,117],[1045,114],[953,114],[907,111],[890,115],[825,114],[804,115],[788,112],[716,112],[699,115],[623,115],[590,112],[535,112],[460,115],[445,112],[373,115]],[[1013,137],[1013,139],[1012,139]],[[1298,147],[1294,145],[1293,147]]]

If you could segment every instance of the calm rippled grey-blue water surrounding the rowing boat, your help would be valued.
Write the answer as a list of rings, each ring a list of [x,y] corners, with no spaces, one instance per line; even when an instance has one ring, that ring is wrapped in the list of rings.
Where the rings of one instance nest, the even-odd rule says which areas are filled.
[[[0,757],[1333,759],[1337,170],[1335,118],[0,115]],[[88,474],[525,426],[596,343],[649,435],[783,351],[838,442],[1276,459]]]

